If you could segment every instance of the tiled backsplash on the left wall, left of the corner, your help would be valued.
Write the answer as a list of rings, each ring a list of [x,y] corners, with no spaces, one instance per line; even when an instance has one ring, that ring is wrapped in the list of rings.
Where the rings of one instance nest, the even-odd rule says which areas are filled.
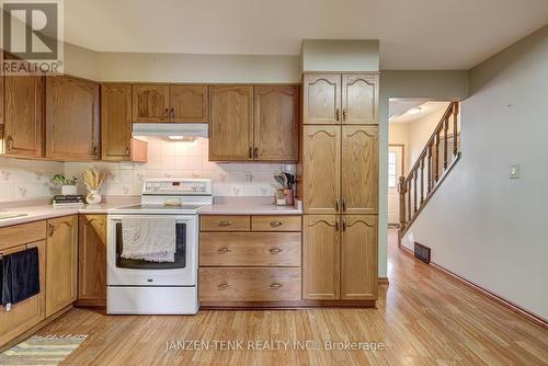
[[[64,170],[57,161],[0,158],[0,201],[52,196],[57,192],[52,178]]]

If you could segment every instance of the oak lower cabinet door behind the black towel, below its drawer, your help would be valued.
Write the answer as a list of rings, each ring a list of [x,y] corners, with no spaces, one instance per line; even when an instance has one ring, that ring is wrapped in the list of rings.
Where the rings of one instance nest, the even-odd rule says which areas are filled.
[[[45,225],[44,225],[45,229]],[[39,263],[39,287],[41,291],[24,301],[13,305],[10,311],[0,307],[0,346],[18,335],[24,333],[32,327],[46,318],[45,311],[45,271],[46,271],[46,242],[38,241],[28,244],[28,248],[38,248]],[[12,254],[25,250],[24,245],[3,251],[3,254]]]

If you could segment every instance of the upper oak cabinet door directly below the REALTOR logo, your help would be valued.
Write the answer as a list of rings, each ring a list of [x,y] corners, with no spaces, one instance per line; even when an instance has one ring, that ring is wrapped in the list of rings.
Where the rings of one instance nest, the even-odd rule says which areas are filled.
[[[44,77],[4,77],[5,153],[43,156]]]

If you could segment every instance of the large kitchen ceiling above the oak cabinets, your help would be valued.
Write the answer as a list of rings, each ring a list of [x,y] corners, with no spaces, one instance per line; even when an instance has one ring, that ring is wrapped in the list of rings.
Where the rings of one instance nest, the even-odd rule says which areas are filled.
[[[380,39],[385,70],[469,69],[548,24],[547,0],[68,0],[66,41],[100,52],[298,55]]]

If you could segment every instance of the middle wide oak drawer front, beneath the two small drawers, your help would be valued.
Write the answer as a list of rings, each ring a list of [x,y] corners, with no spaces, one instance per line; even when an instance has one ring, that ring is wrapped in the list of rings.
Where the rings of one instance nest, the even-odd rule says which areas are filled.
[[[202,232],[199,265],[300,266],[300,232]]]

